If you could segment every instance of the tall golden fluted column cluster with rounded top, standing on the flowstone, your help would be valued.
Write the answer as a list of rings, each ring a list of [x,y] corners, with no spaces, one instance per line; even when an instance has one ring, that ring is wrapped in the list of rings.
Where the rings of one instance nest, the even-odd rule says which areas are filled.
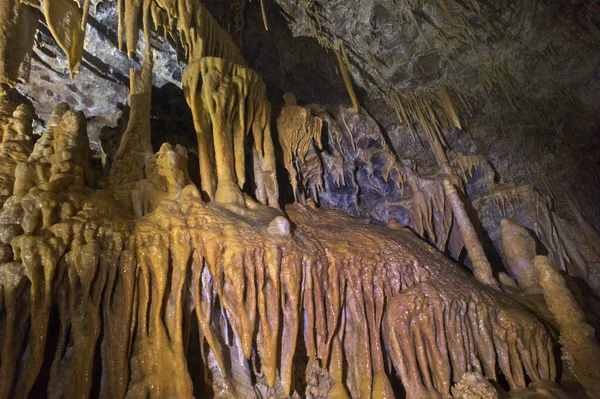
[[[203,192],[217,202],[244,204],[244,140],[252,131],[257,198],[278,208],[271,104],[262,79],[243,65],[204,57],[188,66],[184,86],[198,135]]]

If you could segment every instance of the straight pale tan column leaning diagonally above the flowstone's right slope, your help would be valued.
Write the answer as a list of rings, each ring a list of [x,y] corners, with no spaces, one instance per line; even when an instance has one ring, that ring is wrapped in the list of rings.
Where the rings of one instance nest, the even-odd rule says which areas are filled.
[[[465,207],[456,192],[456,188],[454,188],[450,180],[444,180],[444,192],[452,205],[454,220],[458,224],[465,247],[467,248],[471,262],[473,262],[473,274],[475,278],[484,284],[497,288],[498,282],[494,279],[492,267],[485,256],[485,252],[483,252],[483,247],[479,242],[473,224],[469,220]]]

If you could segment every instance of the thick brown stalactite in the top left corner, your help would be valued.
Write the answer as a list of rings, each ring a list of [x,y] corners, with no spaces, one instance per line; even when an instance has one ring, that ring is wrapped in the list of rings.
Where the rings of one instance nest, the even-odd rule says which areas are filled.
[[[9,86],[29,80],[33,41],[37,31],[36,10],[19,0],[0,5],[0,82]]]

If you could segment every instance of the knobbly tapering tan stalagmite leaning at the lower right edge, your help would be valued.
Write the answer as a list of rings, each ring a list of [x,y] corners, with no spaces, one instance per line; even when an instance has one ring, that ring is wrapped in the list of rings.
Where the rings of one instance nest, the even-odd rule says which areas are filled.
[[[588,396],[600,397],[600,346],[594,338],[594,329],[585,322],[575,298],[547,257],[536,256],[535,270],[546,303],[560,328],[563,359]]]

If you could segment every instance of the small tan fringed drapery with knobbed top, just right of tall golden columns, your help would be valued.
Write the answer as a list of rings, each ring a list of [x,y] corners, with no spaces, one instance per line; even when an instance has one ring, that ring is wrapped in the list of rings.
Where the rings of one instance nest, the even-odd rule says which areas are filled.
[[[311,174],[310,170],[306,171],[303,166],[307,165],[306,156],[309,151],[322,148],[323,120],[311,115],[309,109],[297,105],[296,97],[292,93],[284,95],[284,102],[285,106],[277,118],[277,134],[283,151],[283,162],[290,174],[294,197],[296,201],[304,203],[304,190],[298,185],[300,182],[306,191],[310,190],[313,199],[316,200],[317,192],[323,186],[323,166],[320,158],[313,157],[315,173]],[[297,171],[300,171],[300,178]]]

